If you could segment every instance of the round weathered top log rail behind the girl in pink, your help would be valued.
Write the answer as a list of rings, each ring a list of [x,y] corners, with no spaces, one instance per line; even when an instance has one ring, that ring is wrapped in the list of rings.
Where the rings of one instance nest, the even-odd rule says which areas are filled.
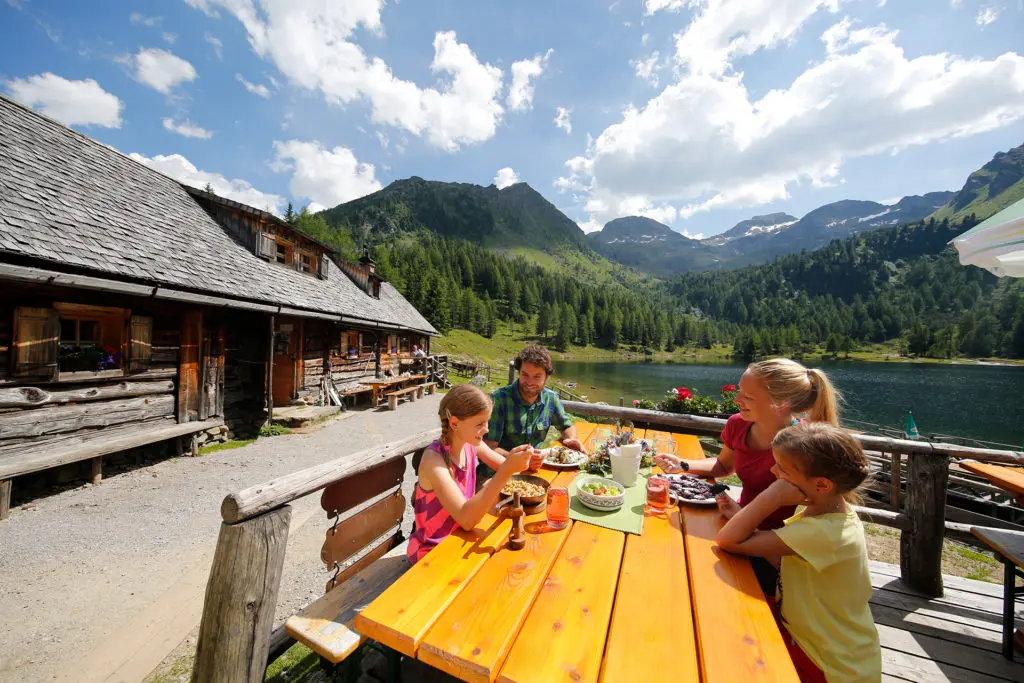
[[[440,428],[431,429],[400,441],[367,449],[236,492],[220,504],[220,516],[229,524],[255,517],[325,488],[335,481],[425,449],[439,438],[440,433]]]

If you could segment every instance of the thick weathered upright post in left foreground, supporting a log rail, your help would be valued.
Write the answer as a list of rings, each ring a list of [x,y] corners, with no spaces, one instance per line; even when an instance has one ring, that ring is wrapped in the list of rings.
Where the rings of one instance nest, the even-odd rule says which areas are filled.
[[[193,683],[263,680],[291,518],[285,505],[220,525]]]

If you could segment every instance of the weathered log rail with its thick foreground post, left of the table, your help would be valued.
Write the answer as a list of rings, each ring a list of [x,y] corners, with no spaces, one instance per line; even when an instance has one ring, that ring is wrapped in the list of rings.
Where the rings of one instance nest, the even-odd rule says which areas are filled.
[[[250,486],[220,505],[217,538],[196,646],[195,683],[262,681],[268,655],[289,637],[272,631],[292,501],[383,463],[407,458],[440,436],[432,429]]]

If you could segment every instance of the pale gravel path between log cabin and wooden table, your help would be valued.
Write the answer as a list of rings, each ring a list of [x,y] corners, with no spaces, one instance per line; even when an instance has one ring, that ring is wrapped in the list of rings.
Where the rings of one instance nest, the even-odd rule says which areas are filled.
[[[0,681],[141,680],[195,635],[226,494],[430,429],[439,400],[350,412],[12,510],[0,522]],[[411,499],[409,471],[406,483]],[[326,528],[318,496],[293,504],[276,622],[323,594]]]

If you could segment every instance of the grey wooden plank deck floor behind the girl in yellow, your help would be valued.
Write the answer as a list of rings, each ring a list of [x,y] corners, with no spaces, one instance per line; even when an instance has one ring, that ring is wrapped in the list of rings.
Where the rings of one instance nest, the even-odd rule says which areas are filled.
[[[1002,587],[944,577],[930,600],[899,580],[899,567],[871,562],[871,612],[882,640],[886,681],[1024,681],[1024,657],[999,654]],[[1024,605],[1017,604],[1018,624]]]

